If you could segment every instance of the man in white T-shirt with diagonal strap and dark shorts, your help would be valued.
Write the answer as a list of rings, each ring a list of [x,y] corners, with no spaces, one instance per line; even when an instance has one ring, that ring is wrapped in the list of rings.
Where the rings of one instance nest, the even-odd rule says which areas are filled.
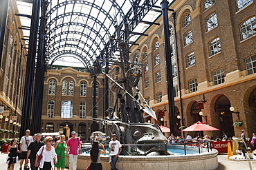
[[[29,136],[30,130],[27,129],[25,132],[25,136],[21,137],[21,140],[19,142],[19,148],[21,151],[21,154],[19,158],[21,159],[21,162],[19,162],[19,170],[22,170],[23,162],[27,158],[27,153],[28,153],[28,146],[30,145],[31,142],[33,142],[33,137]],[[25,164],[28,164],[28,162],[25,161]]]

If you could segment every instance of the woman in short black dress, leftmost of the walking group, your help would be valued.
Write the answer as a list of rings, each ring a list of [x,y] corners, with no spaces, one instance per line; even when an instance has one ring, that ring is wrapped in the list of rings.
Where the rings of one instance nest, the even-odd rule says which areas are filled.
[[[18,162],[18,145],[17,140],[12,139],[10,141],[10,145],[8,146],[8,157],[7,157],[7,169],[13,170],[15,168],[15,164]]]

